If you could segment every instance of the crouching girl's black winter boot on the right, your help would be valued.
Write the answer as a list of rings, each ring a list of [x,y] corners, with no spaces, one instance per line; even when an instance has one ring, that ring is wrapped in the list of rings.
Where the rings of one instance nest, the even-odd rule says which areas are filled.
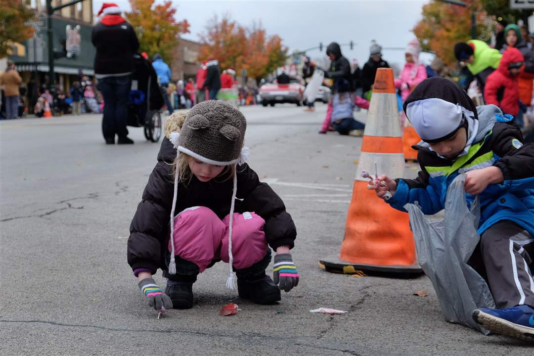
[[[255,304],[273,304],[281,299],[280,288],[265,274],[251,280],[238,278],[237,288],[239,297],[250,299]]]

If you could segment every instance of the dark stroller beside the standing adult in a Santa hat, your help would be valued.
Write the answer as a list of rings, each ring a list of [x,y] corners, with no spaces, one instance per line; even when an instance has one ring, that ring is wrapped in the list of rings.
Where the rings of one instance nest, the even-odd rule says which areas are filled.
[[[161,114],[163,96],[154,68],[143,56],[133,56],[132,90],[128,104],[128,126],[144,126],[145,137],[158,142],[161,137]]]

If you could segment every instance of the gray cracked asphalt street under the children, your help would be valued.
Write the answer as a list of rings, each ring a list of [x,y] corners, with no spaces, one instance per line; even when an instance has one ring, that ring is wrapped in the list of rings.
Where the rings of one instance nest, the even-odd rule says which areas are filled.
[[[249,164],[295,220],[301,281],[279,304],[254,305],[224,287],[219,263],[194,284],[191,310],[160,320],[126,260],[159,143],[131,128],[135,145],[105,145],[99,115],[0,122],[0,354],[532,356],[531,344],[443,320],[423,275],[321,270],[319,258],[340,250],[362,139],[318,135],[323,104],[315,113],[292,105],[242,112]],[[165,286],[161,272],[155,280]],[[420,289],[429,295],[414,296]],[[230,301],[241,311],[219,316]],[[318,307],[348,313],[310,313]]]

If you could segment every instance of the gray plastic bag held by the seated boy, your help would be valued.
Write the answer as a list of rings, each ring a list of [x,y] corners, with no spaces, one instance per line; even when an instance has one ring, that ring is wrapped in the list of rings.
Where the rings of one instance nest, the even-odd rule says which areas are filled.
[[[476,308],[494,308],[495,302],[488,284],[467,264],[480,241],[480,204],[477,197],[467,208],[464,182],[465,175],[459,175],[447,188],[443,220],[430,221],[417,202],[404,208],[410,213],[419,264],[432,281],[443,317],[488,334],[471,317]]]

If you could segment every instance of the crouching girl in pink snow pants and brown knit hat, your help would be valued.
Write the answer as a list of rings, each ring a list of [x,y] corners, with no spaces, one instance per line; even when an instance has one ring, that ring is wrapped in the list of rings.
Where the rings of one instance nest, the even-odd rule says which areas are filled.
[[[296,228],[284,202],[245,163],[245,117],[218,100],[195,105],[185,121],[181,115],[167,119],[159,162],[130,226],[128,263],[139,288],[156,309],[191,308],[197,276],[223,260],[228,288],[237,276],[241,298],[277,302],[281,289],[299,283],[289,253]],[[269,246],[274,282],[265,274]],[[158,268],[167,277],[164,292],[152,279]]]

